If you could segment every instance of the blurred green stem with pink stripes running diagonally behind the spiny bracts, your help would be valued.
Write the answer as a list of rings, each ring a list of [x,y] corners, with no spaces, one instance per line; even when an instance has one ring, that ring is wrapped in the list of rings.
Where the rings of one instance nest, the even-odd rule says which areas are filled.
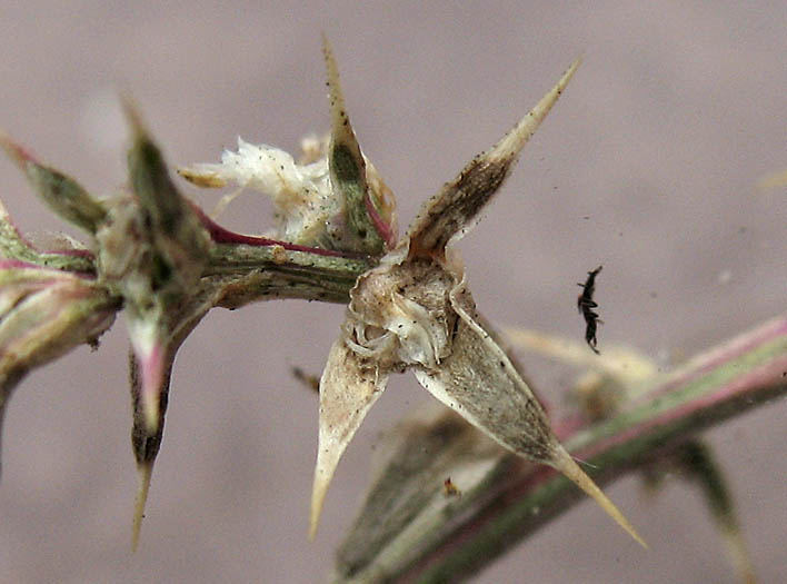
[[[785,393],[787,316],[780,316],[691,359],[619,416],[557,433],[571,453],[598,469],[592,478],[605,484]],[[481,494],[466,493],[441,532],[412,541],[410,560],[388,581],[466,580],[581,501],[566,478],[514,456],[501,458],[491,474],[498,478]],[[459,514],[461,523],[452,522]]]

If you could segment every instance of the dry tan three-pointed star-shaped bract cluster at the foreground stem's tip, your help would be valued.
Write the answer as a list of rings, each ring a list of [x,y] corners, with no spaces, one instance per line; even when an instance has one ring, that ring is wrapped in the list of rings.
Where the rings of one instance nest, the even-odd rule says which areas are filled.
[[[351,131],[346,112],[336,111],[342,107],[339,80],[329,50],[326,56],[333,119]],[[347,445],[389,375],[411,369],[428,392],[499,444],[574,481],[645,545],[555,437],[544,408],[477,316],[465,268],[451,247],[499,189],[578,65],[496,146],[427,201],[407,235],[350,291],[347,319],[320,380],[312,536]],[[336,127],[333,132],[336,139]]]

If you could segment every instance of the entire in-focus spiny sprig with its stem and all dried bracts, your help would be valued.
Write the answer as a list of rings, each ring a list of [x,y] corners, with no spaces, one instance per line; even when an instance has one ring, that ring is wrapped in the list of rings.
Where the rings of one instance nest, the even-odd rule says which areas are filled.
[[[476,313],[452,248],[497,192],[578,62],[514,130],[429,200],[397,240],[394,197],[361,152],[327,43],[325,52],[329,141],[312,143],[300,162],[272,147],[239,142],[239,151],[226,152],[220,165],[181,170],[198,186],[236,184],[271,196],[277,222],[267,236],[225,229],[185,197],[129,100],[129,181],[114,197],[93,197],[0,137],[39,196],[90,239],[83,249],[39,251],[0,208],[0,422],[29,370],[80,344],[94,344],[123,310],[140,478],[136,545],[163,436],[172,365],[202,317],[212,308],[273,298],[349,300],[319,384],[312,535],[347,445],[388,377],[411,369],[476,428],[574,481],[641,543],[558,443],[541,405]]]

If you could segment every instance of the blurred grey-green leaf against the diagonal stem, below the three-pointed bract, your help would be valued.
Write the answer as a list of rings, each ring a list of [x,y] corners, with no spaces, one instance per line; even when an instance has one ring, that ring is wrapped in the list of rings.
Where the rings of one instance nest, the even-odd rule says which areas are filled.
[[[492,468],[508,456],[434,400],[386,438],[381,446],[390,456],[337,552],[332,582],[386,582],[412,546],[428,546],[425,534],[439,531],[460,508],[457,497],[447,495],[446,479],[464,497],[494,479]]]

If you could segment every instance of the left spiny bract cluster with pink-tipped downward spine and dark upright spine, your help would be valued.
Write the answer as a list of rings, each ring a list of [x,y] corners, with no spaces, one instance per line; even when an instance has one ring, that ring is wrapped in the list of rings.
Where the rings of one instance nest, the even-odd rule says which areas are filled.
[[[163,158],[126,103],[133,143],[133,195],[113,200],[96,234],[99,273],[124,300],[131,339],[132,446],[140,472],[136,547],[153,461],[163,432],[172,362],[183,338],[212,307],[200,297],[210,235],[171,182]]]

